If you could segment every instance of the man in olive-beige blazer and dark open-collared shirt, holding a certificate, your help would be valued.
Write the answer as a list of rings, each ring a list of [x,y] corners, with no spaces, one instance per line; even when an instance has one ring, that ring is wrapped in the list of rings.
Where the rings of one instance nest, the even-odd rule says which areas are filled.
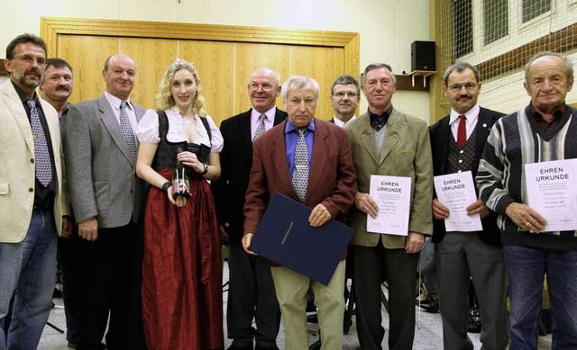
[[[380,283],[389,283],[389,349],[411,349],[415,337],[415,287],[418,252],[433,231],[431,201],[433,162],[426,122],[393,108],[397,87],[389,65],[371,64],[361,79],[369,111],[344,129],[348,131],[358,174],[358,192],[349,220],[354,236],[353,292],[362,349],[381,349]],[[369,194],[371,175],[411,179],[407,236],[367,231],[367,215],[379,207]]]

